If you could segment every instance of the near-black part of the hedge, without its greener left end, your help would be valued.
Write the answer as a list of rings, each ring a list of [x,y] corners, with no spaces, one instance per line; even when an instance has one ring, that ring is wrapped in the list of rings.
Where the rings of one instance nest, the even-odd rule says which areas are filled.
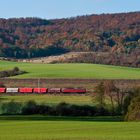
[[[107,109],[97,108],[88,105],[70,105],[67,103],[60,103],[56,106],[37,105],[34,101],[29,101],[22,108],[22,114],[42,114],[50,116],[101,116],[109,115]]]

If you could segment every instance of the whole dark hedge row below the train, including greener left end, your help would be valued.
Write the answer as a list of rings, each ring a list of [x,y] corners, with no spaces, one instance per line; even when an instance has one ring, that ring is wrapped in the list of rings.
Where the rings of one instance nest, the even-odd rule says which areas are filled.
[[[89,105],[72,105],[60,103],[57,105],[38,105],[34,101],[25,104],[17,102],[1,103],[1,114],[5,115],[33,115],[42,114],[50,116],[109,116],[112,112],[107,108]],[[117,115],[117,114],[114,114]]]

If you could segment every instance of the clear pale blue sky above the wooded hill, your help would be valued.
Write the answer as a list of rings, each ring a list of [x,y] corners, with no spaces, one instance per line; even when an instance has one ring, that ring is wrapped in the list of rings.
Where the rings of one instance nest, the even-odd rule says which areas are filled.
[[[58,19],[140,11],[140,0],[0,0],[0,18]]]

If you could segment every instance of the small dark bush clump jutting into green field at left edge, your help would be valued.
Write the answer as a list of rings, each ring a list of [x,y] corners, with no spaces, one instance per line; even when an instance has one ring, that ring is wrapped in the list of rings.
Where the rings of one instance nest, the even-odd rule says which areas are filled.
[[[0,71],[0,78],[16,76],[16,75],[20,75],[20,74],[24,74],[24,73],[27,73],[27,72],[20,70],[18,67],[15,67],[12,70]],[[0,87],[1,86],[3,87],[4,85],[1,85],[1,83],[0,83]]]

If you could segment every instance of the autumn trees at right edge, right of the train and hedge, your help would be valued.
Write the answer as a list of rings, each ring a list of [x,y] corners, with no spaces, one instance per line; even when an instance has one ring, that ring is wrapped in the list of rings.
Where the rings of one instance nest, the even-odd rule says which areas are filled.
[[[107,105],[108,99],[112,114],[122,115],[128,121],[140,121],[140,87],[121,89],[108,80],[99,83],[95,93],[100,108]]]

